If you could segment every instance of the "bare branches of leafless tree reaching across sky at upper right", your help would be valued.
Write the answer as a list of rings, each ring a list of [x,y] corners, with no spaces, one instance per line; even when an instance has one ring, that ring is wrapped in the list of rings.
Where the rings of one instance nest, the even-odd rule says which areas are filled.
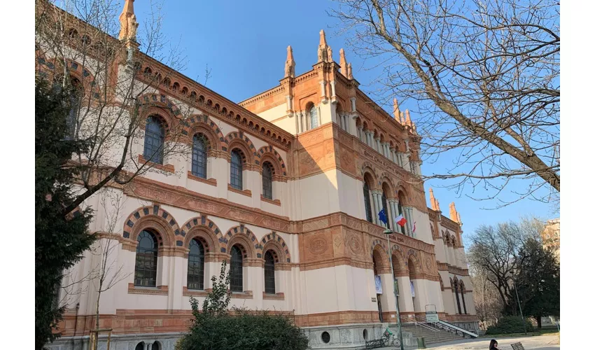
[[[424,179],[495,193],[478,200],[518,179],[515,201],[559,195],[558,1],[337,2],[339,34],[380,62],[379,95],[416,102],[423,158],[454,159]]]

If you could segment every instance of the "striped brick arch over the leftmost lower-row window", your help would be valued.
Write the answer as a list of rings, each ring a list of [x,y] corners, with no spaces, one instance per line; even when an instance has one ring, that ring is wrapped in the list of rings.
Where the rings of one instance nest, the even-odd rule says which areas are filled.
[[[137,236],[145,229],[155,232],[159,246],[183,246],[183,237],[176,219],[162,209],[159,204],[137,209],[124,222],[123,237],[137,240]]]

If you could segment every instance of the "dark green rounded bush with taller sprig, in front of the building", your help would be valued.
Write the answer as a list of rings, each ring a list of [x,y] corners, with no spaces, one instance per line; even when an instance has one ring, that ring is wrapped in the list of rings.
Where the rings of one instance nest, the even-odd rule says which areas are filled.
[[[293,324],[289,316],[267,311],[234,309],[228,313],[229,274],[225,262],[219,281],[211,278],[213,289],[199,310],[198,302],[190,298],[195,317],[190,332],[176,344],[176,350],[305,350],[308,338]]]

